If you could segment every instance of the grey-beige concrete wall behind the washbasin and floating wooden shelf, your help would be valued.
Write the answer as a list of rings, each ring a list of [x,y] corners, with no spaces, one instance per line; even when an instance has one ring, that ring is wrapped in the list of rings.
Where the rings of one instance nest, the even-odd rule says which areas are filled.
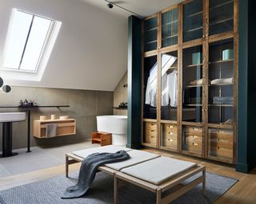
[[[79,143],[90,139],[90,132],[96,131],[96,116],[113,115],[113,92],[86,91],[60,88],[29,88],[13,86],[12,92],[0,93],[0,106],[18,106],[19,100],[35,100],[38,105],[70,105],[70,108],[38,108],[31,112],[31,135],[33,120],[40,115],[69,115],[77,120],[77,134],[37,139],[31,136],[31,147],[51,147],[66,143]],[[18,108],[1,108],[0,112],[18,112]],[[13,123],[13,148],[26,147],[27,120]],[[2,125],[0,124],[0,150],[2,150]]]

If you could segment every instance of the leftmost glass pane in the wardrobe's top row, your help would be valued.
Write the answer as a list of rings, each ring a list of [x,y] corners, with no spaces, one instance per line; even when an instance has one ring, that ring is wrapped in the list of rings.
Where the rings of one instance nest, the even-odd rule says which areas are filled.
[[[150,18],[144,22],[144,52],[157,49],[158,18]]]

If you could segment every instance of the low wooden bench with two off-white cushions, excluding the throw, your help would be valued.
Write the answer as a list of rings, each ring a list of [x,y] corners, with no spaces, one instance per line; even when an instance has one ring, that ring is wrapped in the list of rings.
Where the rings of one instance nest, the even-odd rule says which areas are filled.
[[[171,159],[146,151],[138,151],[114,145],[74,151],[73,153],[66,154],[66,177],[68,176],[69,164],[81,162],[82,159],[93,153],[114,153],[120,150],[125,150],[130,155],[130,159],[118,163],[108,163],[102,167],[98,167],[98,171],[104,171],[114,176],[115,204],[118,203],[118,186],[120,186],[121,181],[133,183],[136,186],[156,193],[158,204],[173,201],[201,182],[203,193],[205,191],[205,167],[196,163]],[[185,186],[181,184],[186,179],[197,174],[197,179],[187,183]],[[170,194],[162,198],[162,192],[169,189],[173,190],[171,190]]]

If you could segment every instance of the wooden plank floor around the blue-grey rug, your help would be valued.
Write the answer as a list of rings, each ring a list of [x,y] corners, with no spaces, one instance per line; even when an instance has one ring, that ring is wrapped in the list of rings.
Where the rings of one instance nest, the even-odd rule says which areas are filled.
[[[206,162],[205,160],[195,159],[184,155],[174,155],[167,151],[158,151],[154,149],[145,149],[158,153],[160,155],[170,156],[175,159],[182,159],[199,163],[206,167],[206,171],[217,175],[228,176],[234,179],[238,179],[237,182],[230,190],[226,192],[221,198],[218,199],[217,204],[255,204],[256,203],[256,170],[250,172],[250,174],[238,173],[234,170],[234,167],[228,167],[220,165],[219,163]],[[79,164],[70,165],[70,172],[76,171],[79,168]],[[0,179],[0,190],[7,189],[12,186],[20,186],[30,182],[36,182],[42,179],[54,177],[55,175],[62,175],[65,173],[65,166],[51,167],[49,169],[43,169],[26,173],[23,175],[14,175],[4,179]]]

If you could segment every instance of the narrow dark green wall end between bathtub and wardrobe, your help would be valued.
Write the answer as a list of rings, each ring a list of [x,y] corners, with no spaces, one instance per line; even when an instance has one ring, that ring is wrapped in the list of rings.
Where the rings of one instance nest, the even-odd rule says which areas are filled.
[[[141,19],[128,19],[128,139],[127,147],[141,143]]]

